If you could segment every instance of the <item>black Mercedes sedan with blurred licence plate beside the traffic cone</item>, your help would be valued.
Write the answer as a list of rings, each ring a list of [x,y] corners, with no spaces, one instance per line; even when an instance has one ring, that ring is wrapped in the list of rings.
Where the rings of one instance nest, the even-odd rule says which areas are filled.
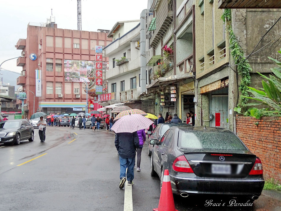
[[[151,151],[150,173],[168,169],[174,194],[226,194],[256,200],[264,177],[261,160],[225,128],[173,126]]]

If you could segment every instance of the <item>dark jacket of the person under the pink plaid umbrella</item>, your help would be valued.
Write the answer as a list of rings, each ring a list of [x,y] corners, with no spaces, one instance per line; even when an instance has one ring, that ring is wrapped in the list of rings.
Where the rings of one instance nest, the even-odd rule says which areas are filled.
[[[140,146],[138,133],[116,133],[115,146],[122,158],[134,158],[136,156],[136,148]]]

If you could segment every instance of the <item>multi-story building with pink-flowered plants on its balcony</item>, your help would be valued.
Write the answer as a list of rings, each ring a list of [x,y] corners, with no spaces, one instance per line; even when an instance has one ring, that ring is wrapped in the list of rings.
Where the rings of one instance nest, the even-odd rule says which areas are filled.
[[[149,84],[148,94],[143,97],[155,99],[154,113],[162,113],[164,117],[177,113],[183,121],[187,112],[194,111],[193,4],[193,1],[154,0],[147,14]]]

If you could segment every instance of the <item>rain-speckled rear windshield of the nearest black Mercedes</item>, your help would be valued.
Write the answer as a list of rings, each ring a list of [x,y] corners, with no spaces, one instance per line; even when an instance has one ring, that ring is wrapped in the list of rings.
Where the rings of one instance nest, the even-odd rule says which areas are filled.
[[[225,150],[247,150],[243,142],[234,133],[223,133],[215,131],[204,132],[179,132],[178,146],[188,149]]]

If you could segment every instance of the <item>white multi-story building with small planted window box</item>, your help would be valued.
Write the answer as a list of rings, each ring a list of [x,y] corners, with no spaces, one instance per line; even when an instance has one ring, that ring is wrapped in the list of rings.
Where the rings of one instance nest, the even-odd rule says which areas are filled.
[[[105,73],[108,91],[115,94],[110,103],[130,102],[130,106],[141,109],[138,96],[145,91],[141,83],[141,23],[140,20],[119,21],[109,32],[112,43],[104,48],[109,57],[109,70]]]

